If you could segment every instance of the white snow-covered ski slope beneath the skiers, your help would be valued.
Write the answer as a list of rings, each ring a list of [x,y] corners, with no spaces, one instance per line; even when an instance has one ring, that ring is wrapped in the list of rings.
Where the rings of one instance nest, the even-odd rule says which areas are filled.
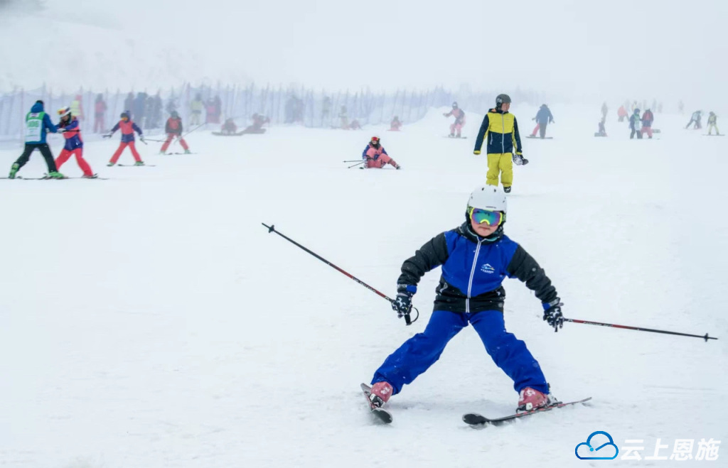
[[[524,135],[535,110],[513,108]],[[554,140],[524,140],[531,164],[515,168],[506,232],[545,267],[565,315],[719,341],[569,323],[554,334],[508,280],[510,331],[555,395],[593,403],[470,429],[462,413],[505,415],[517,395],[467,329],[392,398],[382,427],[359,383],[424,329],[439,273],[405,327],[261,222],[392,296],[401,262],[462,222],[484,182],[480,116],[468,113],[467,140],[443,137],[441,109],[400,133],[198,131],[197,155],[140,145],[157,164],[145,168],[106,168],[117,142],[92,141],[87,158],[109,180],[0,182],[0,465],[583,467],[596,464],[574,447],[596,430],[620,448],[643,439],[643,457],[658,437],[662,455],[679,438],[725,440],[728,138],[659,115],[660,140],[630,141],[616,122],[593,138],[598,116],[552,110]],[[345,169],[375,133],[403,170]],[[0,166],[19,153],[0,151]],[[43,171],[35,154],[21,174]],[[63,172],[80,175],[74,161]]]

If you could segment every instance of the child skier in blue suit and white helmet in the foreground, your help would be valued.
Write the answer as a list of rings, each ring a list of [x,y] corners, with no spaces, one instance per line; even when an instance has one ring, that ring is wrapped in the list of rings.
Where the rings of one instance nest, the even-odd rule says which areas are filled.
[[[406,259],[397,278],[397,299],[392,309],[401,318],[412,308],[417,283],[442,265],[435,306],[424,331],[408,339],[384,360],[371,381],[371,402],[381,407],[411,384],[439,358],[450,339],[468,323],[486,346],[486,352],[511,379],[518,392],[517,411],[530,411],[557,400],[550,395],[541,367],[526,344],[505,329],[503,279],[518,278],[536,293],[543,320],[554,331],[563,326],[561,299],[544,270],[518,243],[503,233],[506,195],[493,185],[470,194],[465,222],[436,235],[414,257]]]

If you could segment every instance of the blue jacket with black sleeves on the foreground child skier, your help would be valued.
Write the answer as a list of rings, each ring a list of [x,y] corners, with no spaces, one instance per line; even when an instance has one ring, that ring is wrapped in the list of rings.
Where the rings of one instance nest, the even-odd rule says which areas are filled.
[[[416,286],[430,270],[442,265],[434,310],[450,312],[503,311],[503,280],[518,278],[547,308],[558,299],[544,270],[523,247],[499,230],[494,238],[475,234],[469,222],[425,243],[402,265],[397,284]],[[399,288],[399,287],[398,287]],[[410,289],[412,290],[412,289]]]

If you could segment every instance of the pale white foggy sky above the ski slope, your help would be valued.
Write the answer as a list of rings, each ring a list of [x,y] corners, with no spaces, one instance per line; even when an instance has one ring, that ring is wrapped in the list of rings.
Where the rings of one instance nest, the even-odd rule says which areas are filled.
[[[119,29],[119,40],[128,35],[143,47],[178,48],[213,78],[327,89],[521,86],[572,98],[682,98],[728,108],[727,5],[76,0],[65,13],[50,10],[98,18]]]

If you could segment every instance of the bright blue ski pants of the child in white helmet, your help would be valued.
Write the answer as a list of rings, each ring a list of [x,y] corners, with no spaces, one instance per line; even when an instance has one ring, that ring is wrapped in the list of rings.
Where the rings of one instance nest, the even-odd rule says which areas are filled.
[[[389,355],[374,373],[371,383],[389,382],[394,389],[392,395],[397,395],[404,384],[411,384],[440,358],[450,339],[468,323],[475,328],[496,366],[513,379],[516,392],[531,387],[548,393],[548,384],[538,361],[526,348],[526,343],[505,330],[503,312],[498,310],[475,313],[435,310],[424,331]]]

